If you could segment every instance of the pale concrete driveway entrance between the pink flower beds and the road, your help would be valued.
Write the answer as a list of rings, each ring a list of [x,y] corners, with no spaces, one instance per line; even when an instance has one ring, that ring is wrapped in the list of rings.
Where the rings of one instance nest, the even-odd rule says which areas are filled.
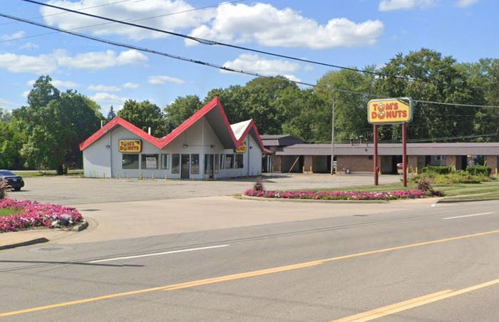
[[[85,208],[91,211],[81,212],[90,222],[88,229],[68,235],[56,243],[76,244],[354,214],[428,209],[435,201],[431,198],[389,204],[287,204],[234,197],[203,197],[86,204]]]

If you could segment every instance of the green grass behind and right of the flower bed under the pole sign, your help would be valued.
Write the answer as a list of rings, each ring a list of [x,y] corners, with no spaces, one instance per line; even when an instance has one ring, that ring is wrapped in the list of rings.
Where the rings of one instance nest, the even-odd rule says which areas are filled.
[[[370,191],[370,192],[389,192],[393,190],[408,190],[417,189],[417,185],[413,182],[408,182],[407,187],[402,186],[402,182],[391,183],[388,185],[366,185],[356,187],[339,187],[329,189],[316,189],[317,191],[339,190],[339,191]],[[463,194],[488,194],[483,198],[499,197],[499,180],[492,182],[470,183],[470,184],[455,184],[455,185],[433,185],[433,189],[442,190],[446,197],[461,196]],[[478,196],[477,196],[478,197]],[[468,199],[468,198],[466,198]]]

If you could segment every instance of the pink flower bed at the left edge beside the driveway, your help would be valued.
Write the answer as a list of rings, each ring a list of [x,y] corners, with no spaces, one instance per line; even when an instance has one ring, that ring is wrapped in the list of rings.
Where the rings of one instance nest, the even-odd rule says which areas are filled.
[[[17,209],[19,213],[0,217],[0,232],[16,232],[31,227],[56,228],[81,222],[83,217],[73,207],[40,204],[31,200],[0,199],[0,209]]]

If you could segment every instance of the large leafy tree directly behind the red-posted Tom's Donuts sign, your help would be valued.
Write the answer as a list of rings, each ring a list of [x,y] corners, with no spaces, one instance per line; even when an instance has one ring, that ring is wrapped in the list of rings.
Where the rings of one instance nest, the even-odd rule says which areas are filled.
[[[468,83],[456,60],[451,56],[423,48],[403,56],[398,53],[381,68],[383,76],[376,81],[379,93],[387,97],[408,96],[418,100],[446,103],[480,104],[480,92]],[[414,81],[395,76],[413,78]],[[408,125],[411,138],[458,137],[473,133],[476,110],[460,105],[418,103],[413,123]],[[400,139],[399,127],[384,127],[385,137]]]

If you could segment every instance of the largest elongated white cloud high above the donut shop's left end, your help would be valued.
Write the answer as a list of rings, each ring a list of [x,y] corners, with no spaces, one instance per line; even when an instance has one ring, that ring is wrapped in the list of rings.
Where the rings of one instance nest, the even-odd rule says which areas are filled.
[[[89,53],[78,53],[76,56],[67,56],[66,51],[59,49],[55,56],[60,66],[68,68],[89,69],[98,71],[103,68],[123,66],[133,63],[147,61],[148,58],[139,51],[122,51],[118,55],[114,51],[93,51]]]

